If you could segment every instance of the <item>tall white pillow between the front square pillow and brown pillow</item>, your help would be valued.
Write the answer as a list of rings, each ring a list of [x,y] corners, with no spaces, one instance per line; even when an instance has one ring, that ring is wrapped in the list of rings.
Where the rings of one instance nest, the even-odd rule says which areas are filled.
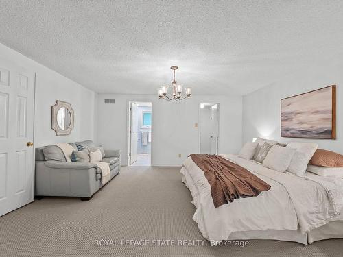
[[[287,171],[299,176],[305,175],[307,164],[316,152],[318,145],[316,143],[292,142],[287,147],[296,149]]]

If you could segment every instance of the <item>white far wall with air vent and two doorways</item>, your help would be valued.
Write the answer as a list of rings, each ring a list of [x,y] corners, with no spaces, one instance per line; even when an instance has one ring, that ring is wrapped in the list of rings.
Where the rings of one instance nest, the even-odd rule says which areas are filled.
[[[115,104],[104,104],[115,99]],[[128,102],[152,102],[152,165],[180,165],[199,151],[199,104],[220,103],[220,153],[237,153],[241,148],[241,97],[194,96],[184,101],[159,100],[157,95],[99,94],[97,97],[97,143],[107,149],[121,149],[122,162],[128,156]],[[181,154],[181,158],[178,157]]]

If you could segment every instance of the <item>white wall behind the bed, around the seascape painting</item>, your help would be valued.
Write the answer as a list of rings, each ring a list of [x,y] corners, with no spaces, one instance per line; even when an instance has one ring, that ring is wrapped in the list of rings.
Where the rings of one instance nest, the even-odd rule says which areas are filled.
[[[280,142],[316,142],[318,147],[343,154],[343,66],[342,62],[307,64],[298,75],[289,75],[283,81],[261,88],[243,97],[243,142],[262,136]],[[281,138],[280,100],[324,86],[337,85],[336,140]]]

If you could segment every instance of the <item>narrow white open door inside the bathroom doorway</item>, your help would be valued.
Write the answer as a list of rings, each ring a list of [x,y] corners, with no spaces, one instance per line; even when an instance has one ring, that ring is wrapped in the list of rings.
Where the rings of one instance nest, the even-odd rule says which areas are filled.
[[[137,141],[138,141],[138,106],[131,103],[130,106],[130,164],[137,162]]]

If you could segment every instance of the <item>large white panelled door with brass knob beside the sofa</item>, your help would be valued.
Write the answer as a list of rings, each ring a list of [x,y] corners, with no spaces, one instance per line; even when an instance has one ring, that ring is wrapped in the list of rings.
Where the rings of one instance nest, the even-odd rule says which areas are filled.
[[[0,216],[34,201],[34,79],[0,60]]]

